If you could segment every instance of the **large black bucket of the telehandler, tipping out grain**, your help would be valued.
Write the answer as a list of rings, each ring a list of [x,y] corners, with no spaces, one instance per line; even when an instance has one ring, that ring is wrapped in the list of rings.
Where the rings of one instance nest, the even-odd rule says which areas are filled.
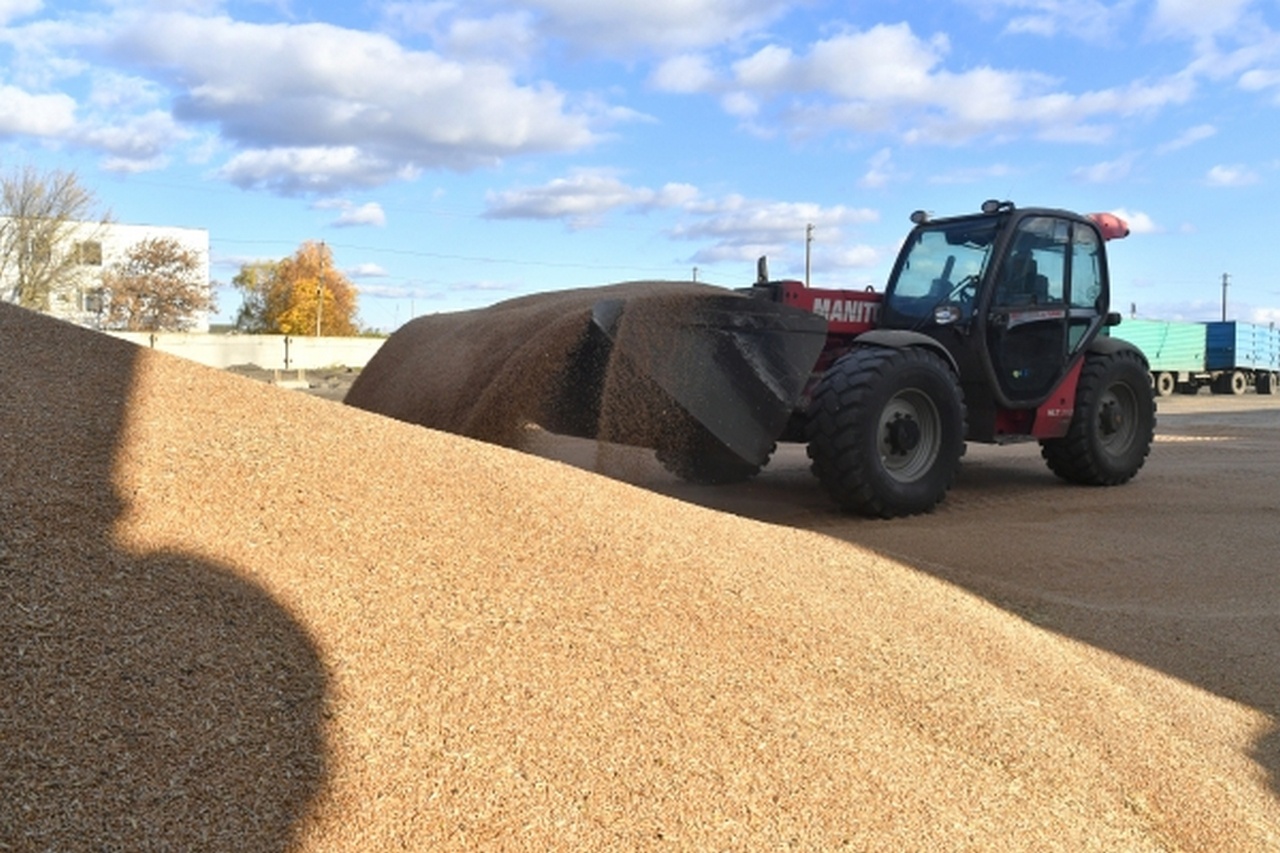
[[[612,397],[652,397],[637,391],[652,383],[680,411],[649,400],[645,418],[691,418],[751,465],[773,452],[827,334],[817,314],[735,292],[600,300],[591,323],[612,342]]]

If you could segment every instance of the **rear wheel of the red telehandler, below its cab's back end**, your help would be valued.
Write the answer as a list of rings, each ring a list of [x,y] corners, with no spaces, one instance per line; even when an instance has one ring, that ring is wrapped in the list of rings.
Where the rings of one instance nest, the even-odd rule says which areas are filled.
[[[1142,469],[1156,432],[1156,401],[1142,356],[1091,353],[1066,435],[1041,442],[1051,471],[1069,483],[1119,485]]]

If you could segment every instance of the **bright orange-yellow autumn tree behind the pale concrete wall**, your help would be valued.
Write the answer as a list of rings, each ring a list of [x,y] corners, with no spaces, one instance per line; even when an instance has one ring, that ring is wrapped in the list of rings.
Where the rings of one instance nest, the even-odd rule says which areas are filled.
[[[244,296],[238,325],[270,334],[353,336],[356,287],[323,242],[305,242],[280,261],[241,266],[232,284]]]

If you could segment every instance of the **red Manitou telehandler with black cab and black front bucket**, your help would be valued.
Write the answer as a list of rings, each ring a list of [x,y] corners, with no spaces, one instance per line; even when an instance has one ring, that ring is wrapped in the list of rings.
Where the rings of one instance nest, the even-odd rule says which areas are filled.
[[[732,482],[758,471],[774,441],[806,442],[831,497],[881,517],[932,510],[966,441],[1038,441],[1073,483],[1132,479],[1156,406],[1143,353],[1103,333],[1120,323],[1106,241],[1126,225],[1007,201],[911,220],[882,295],[771,282],[762,259],[744,293],[768,309],[724,297],[685,318],[709,347],[691,364],[717,365],[712,382],[682,387],[698,371],[669,346],[627,351],[707,428],[659,459],[686,479]],[[598,305],[595,324],[612,336],[625,313]]]

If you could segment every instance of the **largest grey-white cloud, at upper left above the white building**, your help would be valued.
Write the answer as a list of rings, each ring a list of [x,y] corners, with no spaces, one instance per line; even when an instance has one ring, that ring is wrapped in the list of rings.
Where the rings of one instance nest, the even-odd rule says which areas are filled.
[[[238,183],[371,186],[406,169],[467,169],[596,138],[549,85],[329,24],[156,14],[124,27],[110,50],[173,88],[179,120],[212,123],[244,149],[225,170]]]

